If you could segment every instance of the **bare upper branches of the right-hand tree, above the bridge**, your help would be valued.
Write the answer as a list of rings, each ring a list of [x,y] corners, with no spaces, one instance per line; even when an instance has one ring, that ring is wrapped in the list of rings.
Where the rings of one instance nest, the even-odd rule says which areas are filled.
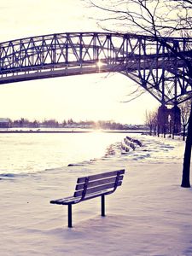
[[[186,36],[191,32],[192,1],[87,0],[100,9],[99,26],[110,32],[143,33],[153,37]]]

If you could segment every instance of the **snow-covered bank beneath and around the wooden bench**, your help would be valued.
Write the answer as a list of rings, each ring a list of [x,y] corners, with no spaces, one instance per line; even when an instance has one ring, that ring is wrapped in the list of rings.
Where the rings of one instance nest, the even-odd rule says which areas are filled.
[[[180,187],[184,143],[137,137],[143,147],[102,159],[28,175],[1,177],[0,255],[192,255],[192,189]],[[77,177],[125,168],[106,197],[67,207],[49,201],[73,195]]]

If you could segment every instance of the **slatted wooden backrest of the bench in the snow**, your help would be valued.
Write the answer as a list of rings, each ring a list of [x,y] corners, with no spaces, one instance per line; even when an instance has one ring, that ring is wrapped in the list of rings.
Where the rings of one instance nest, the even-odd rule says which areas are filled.
[[[84,200],[85,195],[102,194],[103,190],[108,189],[106,193],[113,193],[118,186],[121,185],[125,170],[113,172],[104,172],[87,177],[79,177],[74,192],[74,197],[81,197]]]

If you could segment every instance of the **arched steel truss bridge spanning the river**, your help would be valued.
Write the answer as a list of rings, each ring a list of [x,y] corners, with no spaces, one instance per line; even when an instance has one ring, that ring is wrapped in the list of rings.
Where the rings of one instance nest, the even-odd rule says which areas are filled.
[[[166,44],[165,44],[166,42]],[[109,32],[67,32],[0,44],[0,84],[88,73],[122,73],[162,105],[191,96],[183,58],[192,63],[192,38],[163,38]]]

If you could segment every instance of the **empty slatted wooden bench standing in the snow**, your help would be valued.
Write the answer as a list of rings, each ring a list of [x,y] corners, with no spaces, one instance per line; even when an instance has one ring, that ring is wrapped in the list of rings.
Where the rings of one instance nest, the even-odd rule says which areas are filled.
[[[68,206],[68,227],[72,228],[72,205],[102,197],[102,216],[105,216],[105,195],[112,194],[122,183],[125,170],[104,172],[87,177],[79,177],[73,196],[51,200],[51,204]]]

